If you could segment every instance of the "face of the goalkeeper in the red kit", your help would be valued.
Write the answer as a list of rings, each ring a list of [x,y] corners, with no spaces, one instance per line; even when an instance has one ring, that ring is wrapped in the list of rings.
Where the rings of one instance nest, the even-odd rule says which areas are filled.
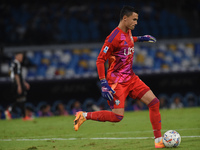
[[[138,14],[133,12],[129,17],[124,16],[125,25],[128,29],[133,30],[137,25]]]

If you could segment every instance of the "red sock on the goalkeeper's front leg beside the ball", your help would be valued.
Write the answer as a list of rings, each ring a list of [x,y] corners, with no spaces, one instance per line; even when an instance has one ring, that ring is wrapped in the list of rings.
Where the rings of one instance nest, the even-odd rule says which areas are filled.
[[[149,107],[149,117],[153,127],[154,137],[161,137],[161,115],[159,112],[160,101],[154,98],[148,105]]]

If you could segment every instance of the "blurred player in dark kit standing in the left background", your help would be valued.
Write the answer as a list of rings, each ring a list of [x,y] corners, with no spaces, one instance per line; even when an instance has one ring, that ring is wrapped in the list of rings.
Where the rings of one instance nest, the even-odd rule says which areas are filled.
[[[22,76],[22,62],[24,54],[18,52],[15,54],[14,60],[10,67],[10,78],[12,81],[11,94],[14,103],[8,107],[5,111],[7,119],[12,118],[12,113],[18,113],[17,109],[20,109],[20,115],[23,120],[31,120],[32,118],[26,116],[25,102],[27,90],[30,89],[30,85],[23,79]]]

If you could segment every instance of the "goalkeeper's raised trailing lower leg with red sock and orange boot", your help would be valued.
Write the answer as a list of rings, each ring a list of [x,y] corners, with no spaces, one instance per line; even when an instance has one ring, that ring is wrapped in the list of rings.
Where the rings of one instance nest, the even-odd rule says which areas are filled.
[[[120,122],[123,119],[124,109],[121,109],[120,114],[116,114],[115,112],[120,112],[120,110],[113,109],[112,111],[102,110],[95,112],[83,112],[80,111],[76,114],[76,118],[74,120],[74,129],[78,131],[79,127],[86,120],[95,120],[95,121],[109,121],[109,122]]]

